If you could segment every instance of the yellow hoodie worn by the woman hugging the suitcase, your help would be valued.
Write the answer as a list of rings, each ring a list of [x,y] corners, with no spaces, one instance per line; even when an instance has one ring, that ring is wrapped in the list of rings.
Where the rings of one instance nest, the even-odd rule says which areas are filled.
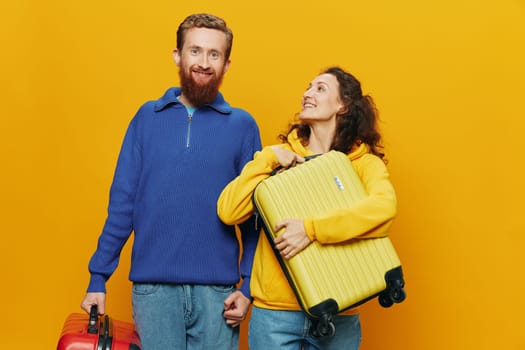
[[[279,145],[301,156],[313,155],[297,134]],[[396,195],[384,162],[370,153],[365,144],[355,146],[348,158],[361,178],[368,197],[358,205],[329,214],[306,218],[306,234],[313,240],[329,244],[354,237],[386,236],[396,215]],[[255,187],[279,166],[270,146],[257,152],[241,174],[222,191],[217,212],[229,225],[245,221],[253,214],[252,195]],[[253,262],[251,294],[255,306],[274,310],[300,310],[295,294],[274,255],[266,236],[261,234]]]

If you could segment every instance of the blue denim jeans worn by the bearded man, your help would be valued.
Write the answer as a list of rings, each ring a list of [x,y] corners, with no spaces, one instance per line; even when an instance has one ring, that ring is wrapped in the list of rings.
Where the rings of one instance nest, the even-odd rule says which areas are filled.
[[[235,286],[133,285],[133,320],[142,350],[237,350],[239,327],[222,316]]]

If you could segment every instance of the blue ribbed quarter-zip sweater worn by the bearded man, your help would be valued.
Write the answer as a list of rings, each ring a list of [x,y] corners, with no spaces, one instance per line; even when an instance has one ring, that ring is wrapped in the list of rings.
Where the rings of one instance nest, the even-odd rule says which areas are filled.
[[[222,189],[261,149],[259,129],[246,111],[219,94],[188,115],[170,88],[132,119],[111,185],[108,216],[93,254],[88,292],[105,292],[122,247],[134,232],[129,279],[144,283],[236,284],[249,293],[258,232],[217,216]]]

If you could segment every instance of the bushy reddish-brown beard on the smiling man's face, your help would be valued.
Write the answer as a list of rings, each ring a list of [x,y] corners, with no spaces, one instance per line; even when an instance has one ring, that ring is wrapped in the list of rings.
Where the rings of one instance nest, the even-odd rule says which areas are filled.
[[[181,65],[179,69],[180,85],[182,94],[193,105],[200,107],[212,102],[219,93],[219,87],[224,76],[223,72],[217,74],[210,70],[213,77],[206,84],[197,83],[191,76],[191,68]]]

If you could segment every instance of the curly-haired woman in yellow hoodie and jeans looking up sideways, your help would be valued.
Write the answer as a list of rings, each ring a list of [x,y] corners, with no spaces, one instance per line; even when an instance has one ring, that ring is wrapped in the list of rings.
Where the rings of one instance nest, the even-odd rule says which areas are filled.
[[[238,224],[253,213],[252,194],[257,184],[277,167],[288,168],[305,156],[330,150],[344,152],[352,161],[368,197],[323,218],[288,218],[276,247],[290,259],[312,241],[332,244],[356,237],[385,236],[396,214],[396,195],[381,152],[377,111],[370,96],[363,96],[359,81],[341,68],[332,67],[317,76],[303,95],[300,120],[293,124],[282,144],[255,154],[241,174],[221,193],[218,214],[227,224]],[[334,234],[337,232],[338,234]],[[289,286],[265,235],[260,235],[251,277],[254,307],[249,326],[252,350],[358,349],[361,326],[356,310],[335,318],[336,334],[316,338],[311,320]]]

